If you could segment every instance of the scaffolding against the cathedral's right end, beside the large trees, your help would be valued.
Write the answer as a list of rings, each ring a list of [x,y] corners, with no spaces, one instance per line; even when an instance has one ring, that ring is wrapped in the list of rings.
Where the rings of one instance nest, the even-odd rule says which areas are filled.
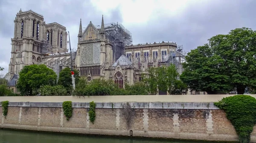
[[[177,72],[181,74],[183,72],[182,63],[185,62],[185,56],[187,51],[184,51],[183,45],[177,45],[175,52],[170,52],[169,58],[166,60],[166,65],[174,64],[177,68]]]

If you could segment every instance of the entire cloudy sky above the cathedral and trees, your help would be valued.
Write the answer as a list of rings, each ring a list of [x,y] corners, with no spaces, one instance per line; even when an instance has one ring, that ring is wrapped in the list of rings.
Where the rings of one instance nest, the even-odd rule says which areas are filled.
[[[248,27],[256,30],[256,0],[0,0],[0,67],[8,72],[14,20],[20,8],[42,14],[70,32],[76,48],[79,22],[120,22],[133,44],[173,41],[190,51],[217,34]]]

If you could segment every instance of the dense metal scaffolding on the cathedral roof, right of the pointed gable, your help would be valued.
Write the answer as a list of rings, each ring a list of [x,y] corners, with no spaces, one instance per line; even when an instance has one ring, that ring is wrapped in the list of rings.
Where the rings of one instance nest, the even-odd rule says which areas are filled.
[[[121,23],[112,22],[104,24],[105,35],[113,45],[113,60],[116,61],[125,52],[125,45],[132,44],[131,32],[128,31]],[[99,30],[100,25],[96,28]]]

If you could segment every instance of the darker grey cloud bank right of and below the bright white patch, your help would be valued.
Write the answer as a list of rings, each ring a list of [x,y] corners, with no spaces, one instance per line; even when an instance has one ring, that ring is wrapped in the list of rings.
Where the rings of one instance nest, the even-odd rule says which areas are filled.
[[[175,17],[158,17],[147,25],[128,25],[134,44],[174,41],[191,50],[203,45],[212,36],[227,34],[231,29],[249,27],[256,30],[254,0],[211,1],[194,4]]]

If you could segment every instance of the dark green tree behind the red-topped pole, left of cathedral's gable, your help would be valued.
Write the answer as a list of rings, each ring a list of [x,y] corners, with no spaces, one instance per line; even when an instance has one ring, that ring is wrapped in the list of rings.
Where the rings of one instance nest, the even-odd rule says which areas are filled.
[[[79,72],[78,70],[73,70],[73,71],[75,73],[74,74],[75,84],[78,84],[79,78],[80,78]],[[68,92],[72,91],[73,89],[72,76],[71,76],[71,69],[69,67],[64,68],[59,73],[58,84],[64,86]]]

